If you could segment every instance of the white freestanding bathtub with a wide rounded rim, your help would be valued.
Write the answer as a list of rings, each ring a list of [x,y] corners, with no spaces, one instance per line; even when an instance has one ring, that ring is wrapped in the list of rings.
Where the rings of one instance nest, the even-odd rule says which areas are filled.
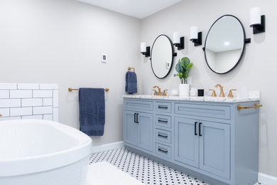
[[[92,139],[45,120],[0,122],[1,185],[85,185]]]

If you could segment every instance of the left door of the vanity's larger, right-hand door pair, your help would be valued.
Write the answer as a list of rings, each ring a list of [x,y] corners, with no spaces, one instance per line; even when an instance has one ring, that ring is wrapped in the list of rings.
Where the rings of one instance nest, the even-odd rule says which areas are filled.
[[[199,136],[197,121],[175,117],[175,152],[174,158],[178,162],[190,166],[199,166]]]

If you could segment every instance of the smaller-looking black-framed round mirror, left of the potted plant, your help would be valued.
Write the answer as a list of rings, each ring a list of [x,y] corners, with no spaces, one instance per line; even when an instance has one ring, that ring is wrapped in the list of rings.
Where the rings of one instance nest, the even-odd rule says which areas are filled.
[[[173,44],[168,36],[156,38],[151,50],[151,68],[157,78],[165,78],[173,65]]]

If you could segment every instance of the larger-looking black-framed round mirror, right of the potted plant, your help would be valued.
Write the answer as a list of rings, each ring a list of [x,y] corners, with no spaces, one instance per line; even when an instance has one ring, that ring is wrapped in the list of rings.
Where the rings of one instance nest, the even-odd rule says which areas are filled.
[[[214,73],[234,69],[244,53],[245,31],[235,16],[224,15],[212,24],[205,41],[205,59]]]

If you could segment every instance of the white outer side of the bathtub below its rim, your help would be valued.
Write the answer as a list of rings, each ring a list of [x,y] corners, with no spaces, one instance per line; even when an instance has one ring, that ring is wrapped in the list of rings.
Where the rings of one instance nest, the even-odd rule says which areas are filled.
[[[85,185],[89,157],[80,161],[34,174],[0,177],[1,185]]]

